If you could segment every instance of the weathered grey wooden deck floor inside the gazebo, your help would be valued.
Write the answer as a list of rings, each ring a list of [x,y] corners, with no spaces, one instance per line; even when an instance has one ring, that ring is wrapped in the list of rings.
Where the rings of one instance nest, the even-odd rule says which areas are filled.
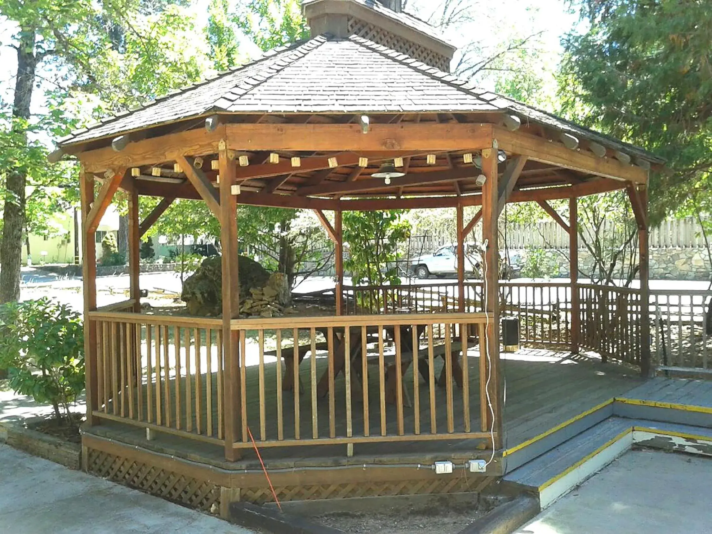
[[[477,384],[478,355],[471,352],[468,357],[468,368],[471,374],[471,384]],[[317,359],[318,372],[326,365],[325,359]],[[506,403],[505,417],[505,448],[511,448],[543,431],[565,422],[571,417],[595,407],[614,396],[621,395],[639,386],[641,380],[633,370],[615,365],[603,365],[595,360],[583,357],[576,360],[567,359],[565,354],[548,350],[520,350],[515,354],[503,355],[503,372],[506,378]],[[441,363],[439,364],[439,366]],[[376,434],[380,429],[379,414],[379,387],[377,367],[370,367],[372,373],[369,384],[370,396],[370,429]],[[437,369],[439,372],[439,368]],[[300,432],[301,436],[312,435],[311,397],[310,397],[310,362],[307,358],[300,367],[300,375],[305,384],[305,391],[300,394]],[[374,376],[375,375],[375,376]],[[214,392],[216,376],[213,375]],[[248,392],[248,424],[255,439],[261,439],[259,424],[259,399],[257,395],[258,369],[256,366],[248,367],[247,383]],[[409,393],[412,396],[412,370],[404,377],[409,384]],[[206,375],[203,375],[203,383]],[[268,438],[276,437],[276,365],[266,365],[266,384],[273,384],[271,392],[265,397],[266,409],[266,435]],[[172,382],[173,384],[173,382]],[[345,384],[342,377],[335,382],[337,406],[337,435],[345,431]],[[422,431],[429,432],[429,389],[420,382],[420,419]],[[205,388],[203,389],[205,391]],[[446,389],[436,387],[436,422],[439,431],[445,431],[446,422]],[[144,398],[146,396],[144,395]],[[184,403],[184,398],[182,400]],[[174,406],[174,399],[173,399]],[[355,435],[362,435],[363,412],[360,392],[352,397],[352,409]],[[387,405],[388,431],[394,432],[395,421],[394,405]],[[214,414],[214,431],[218,426],[216,409]],[[184,407],[182,414],[185,414]],[[283,397],[284,436],[286,439],[294,435],[294,405],[293,394],[286,392]],[[463,427],[463,407],[461,390],[454,387],[454,414],[456,431]],[[472,429],[479,430],[479,404],[478,388],[471,390]],[[206,409],[202,410],[202,417],[206,417]],[[204,419],[205,420],[205,419]],[[404,408],[404,424],[407,432],[412,431],[414,425],[414,408]],[[328,436],[328,400],[318,401],[318,427],[320,436]],[[224,461],[224,451],[220,446],[193,441],[190,439],[158,434],[155,441],[147,442],[145,432],[135,426],[120,423],[103,422],[91,430],[94,434],[110,437],[130,444],[156,449],[164,454],[187,457],[189,459],[205,461],[226,468],[253,468],[258,466],[256,454],[252,449],[245,449],[244,458],[236,464]],[[343,434],[341,434],[343,435]],[[294,446],[294,447],[264,447],[261,448],[263,459],[269,468],[289,468],[298,466],[331,466],[358,461],[376,461],[384,463],[397,463],[402,459],[409,461],[432,461],[448,456],[454,458],[458,455],[471,456],[473,452],[490,445],[481,439],[456,440],[456,441],[417,441],[402,443],[369,443],[357,444],[355,456],[346,457],[346,447],[343,445],[332,446]]]

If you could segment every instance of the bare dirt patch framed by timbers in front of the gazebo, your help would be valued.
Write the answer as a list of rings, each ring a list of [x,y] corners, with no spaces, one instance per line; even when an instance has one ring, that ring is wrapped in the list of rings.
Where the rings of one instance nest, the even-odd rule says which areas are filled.
[[[347,533],[456,534],[493,507],[493,504],[486,503],[448,506],[441,501],[427,506],[394,506],[377,512],[331,512],[311,520]]]

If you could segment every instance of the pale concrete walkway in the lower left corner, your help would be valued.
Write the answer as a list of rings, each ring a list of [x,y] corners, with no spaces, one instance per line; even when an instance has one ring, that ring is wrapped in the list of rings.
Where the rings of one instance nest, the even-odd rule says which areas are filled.
[[[0,533],[251,534],[0,444]]]

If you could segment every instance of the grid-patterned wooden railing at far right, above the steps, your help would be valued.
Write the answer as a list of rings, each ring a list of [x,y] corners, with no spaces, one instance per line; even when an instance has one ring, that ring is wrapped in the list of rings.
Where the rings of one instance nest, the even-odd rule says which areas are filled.
[[[653,354],[660,370],[712,372],[712,291],[651,290]]]

